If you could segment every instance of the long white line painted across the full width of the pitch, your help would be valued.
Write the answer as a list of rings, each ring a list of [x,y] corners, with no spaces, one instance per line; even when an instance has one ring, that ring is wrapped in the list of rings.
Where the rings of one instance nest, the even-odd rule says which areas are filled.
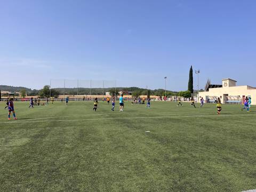
[[[13,121],[3,122],[7,123],[40,123],[40,122],[71,122],[71,121],[101,121],[101,120],[114,120],[114,119],[147,119],[147,118],[184,118],[184,117],[232,117],[232,116],[254,116],[254,115],[197,115],[197,116],[161,116],[161,117],[116,117],[116,118],[96,118],[96,119],[63,119],[63,120],[50,120],[50,121]]]

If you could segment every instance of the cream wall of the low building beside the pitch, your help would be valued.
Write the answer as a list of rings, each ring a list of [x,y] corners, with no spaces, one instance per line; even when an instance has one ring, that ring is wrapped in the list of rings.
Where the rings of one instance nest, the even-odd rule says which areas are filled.
[[[199,98],[203,97],[204,99],[206,96],[215,96],[220,97],[221,102],[223,102],[224,95],[228,94],[229,96],[237,96],[239,95],[241,98],[243,95],[251,96],[252,98],[252,105],[256,105],[256,89],[252,89],[250,86],[230,86],[230,87],[221,87],[221,88],[212,88],[209,89],[208,92],[199,92]]]

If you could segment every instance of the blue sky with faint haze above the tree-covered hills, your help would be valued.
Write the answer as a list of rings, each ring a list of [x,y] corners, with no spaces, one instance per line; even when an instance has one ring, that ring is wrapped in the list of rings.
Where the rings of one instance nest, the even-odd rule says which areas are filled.
[[[256,86],[254,0],[0,0],[0,84],[116,79],[186,90],[190,65]],[[197,78],[194,74],[194,88]]]

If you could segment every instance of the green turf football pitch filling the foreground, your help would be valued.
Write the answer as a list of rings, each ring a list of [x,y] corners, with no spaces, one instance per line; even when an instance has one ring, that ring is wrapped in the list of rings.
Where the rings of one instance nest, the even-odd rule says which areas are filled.
[[[256,189],[255,107],[28,105],[14,102],[7,121],[0,103],[0,191]]]

